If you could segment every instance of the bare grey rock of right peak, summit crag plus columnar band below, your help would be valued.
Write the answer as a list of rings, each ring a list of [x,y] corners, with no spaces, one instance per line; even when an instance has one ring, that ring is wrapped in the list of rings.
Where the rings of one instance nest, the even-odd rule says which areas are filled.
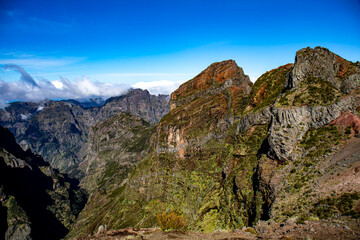
[[[326,48],[304,48],[297,52],[294,68],[285,76],[285,89],[301,91],[301,83],[310,78],[321,78],[349,94],[360,85],[359,67]],[[281,94],[281,95],[284,95]],[[281,96],[280,95],[280,96]],[[242,116],[237,132],[251,126],[270,123],[268,155],[281,161],[295,160],[298,156],[296,143],[310,128],[320,128],[329,124],[346,111],[354,111],[359,105],[357,95],[343,96],[335,103],[323,105],[281,106],[275,104],[255,113]]]

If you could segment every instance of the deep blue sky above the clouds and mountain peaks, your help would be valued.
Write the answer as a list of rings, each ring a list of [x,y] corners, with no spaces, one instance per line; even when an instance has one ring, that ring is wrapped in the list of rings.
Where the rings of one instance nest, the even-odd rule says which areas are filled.
[[[255,80],[307,46],[360,60],[360,1],[0,1],[0,64],[35,81],[171,91],[226,59]],[[0,70],[2,82],[20,77]]]

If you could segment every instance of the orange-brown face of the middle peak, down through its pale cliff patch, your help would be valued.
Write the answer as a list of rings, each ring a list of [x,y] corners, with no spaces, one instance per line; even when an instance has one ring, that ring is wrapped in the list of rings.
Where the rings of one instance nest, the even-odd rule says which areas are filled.
[[[183,158],[188,146],[209,132],[226,130],[239,109],[238,100],[248,95],[252,83],[233,60],[210,65],[171,95],[171,112],[158,127],[158,151],[171,151]],[[231,120],[230,120],[231,121]],[[221,130],[222,129],[222,130]],[[196,138],[196,139],[194,139]]]

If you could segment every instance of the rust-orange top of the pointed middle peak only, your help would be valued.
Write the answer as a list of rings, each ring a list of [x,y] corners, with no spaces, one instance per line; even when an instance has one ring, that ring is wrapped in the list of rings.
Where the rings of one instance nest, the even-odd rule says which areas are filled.
[[[170,109],[186,105],[198,97],[215,95],[232,86],[239,87],[244,93],[249,94],[252,83],[234,60],[213,63],[171,94]]]

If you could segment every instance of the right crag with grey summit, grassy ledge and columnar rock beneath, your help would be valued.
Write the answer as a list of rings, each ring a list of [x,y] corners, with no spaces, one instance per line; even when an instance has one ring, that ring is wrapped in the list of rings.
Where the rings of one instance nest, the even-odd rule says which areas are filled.
[[[360,86],[360,67],[354,63],[321,47],[302,49],[295,59],[292,83],[275,104],[269,129],[269,154],[282,161],[296,159],[296,142],[301,141],[307,130],[325,126],[344,112],[355,111],[360,101],[356,94],[340,92],[350,93]],[[344,84],[348,87],[344,88]],[[307,101],[301,99],[304,96]],[[289,108],[292,105],[295,106]]]

